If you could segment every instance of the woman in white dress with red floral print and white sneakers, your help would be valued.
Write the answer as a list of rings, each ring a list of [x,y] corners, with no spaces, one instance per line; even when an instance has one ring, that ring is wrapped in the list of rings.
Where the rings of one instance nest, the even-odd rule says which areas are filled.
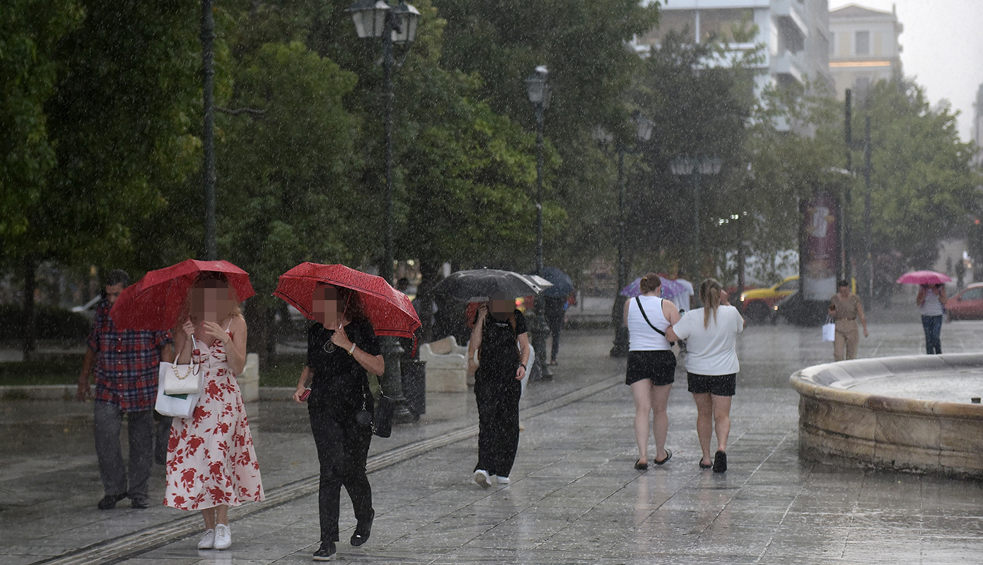
[[[260,462],[236,377],[246,368],[246,320],[222,273],[202,272],[174,330],[175,363],[198,365],[202,395],[191,418],[175,418],[164,505],[201,510],[199,549],[232,544],[229,506],[262,500]]]

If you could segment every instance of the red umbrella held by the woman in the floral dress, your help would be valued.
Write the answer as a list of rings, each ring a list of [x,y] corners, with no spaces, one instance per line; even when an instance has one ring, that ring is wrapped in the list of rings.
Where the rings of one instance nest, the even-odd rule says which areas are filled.
[[[188,289],[205,271],[223,273],[243,301],[256,294],[249,273],[228,261],[188,259],[156,271],[123,289],[109,316],[119,330],[170,330],[181,315]]]

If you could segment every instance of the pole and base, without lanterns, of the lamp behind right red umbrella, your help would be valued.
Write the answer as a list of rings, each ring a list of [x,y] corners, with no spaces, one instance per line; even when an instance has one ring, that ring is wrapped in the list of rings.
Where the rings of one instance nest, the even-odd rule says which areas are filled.
[[[394,254],[392,249],[395,211],[392,189],[392,100],[395,93],[392,87],[392,69],[396,66],[396,58],[392,53],[392,29],[395,27],[391,10],[385,15],[386,26],[382,32],[382,101],[384,105],[383,131],[385,136],[385,257],[379,267],[379,276],[385,282],[392,284]],[[383,335],[379,339],[382,358],[385,361],[385,371],[382,373],[382,389],[396,403],[393,419],[399,424],[408,424],[419,418],[413,414],[406,404],[403,395],[403,371],[400,358],[404,350],[399,339],[391,335]]]

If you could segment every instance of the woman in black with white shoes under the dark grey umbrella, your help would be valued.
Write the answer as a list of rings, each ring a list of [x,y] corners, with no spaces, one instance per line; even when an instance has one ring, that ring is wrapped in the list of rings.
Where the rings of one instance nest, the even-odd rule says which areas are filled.
[[[478,464],[474,481],[484,488],[507,485],[519,448],[519,397],[529,363],[526,319],[515,300],[495,293],[478,309],[468,341],[468,372],[475,375],[478,402]],[[491,316],[489,315],[491,314]],[[479,363],[474,361],[478,351]]]

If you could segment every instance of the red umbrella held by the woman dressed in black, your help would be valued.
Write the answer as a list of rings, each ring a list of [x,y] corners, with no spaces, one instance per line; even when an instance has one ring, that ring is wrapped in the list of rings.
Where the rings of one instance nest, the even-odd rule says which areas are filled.
[[[283,275],[273,296],[283,298],[304,316],[314,320],[311,295],[318,283],[351,288],[359,293],[362,307],[376,335],[413,337],[420,328],[420,318],[406,294],[396,290],[385,279],[344,265],[301,263]]]

